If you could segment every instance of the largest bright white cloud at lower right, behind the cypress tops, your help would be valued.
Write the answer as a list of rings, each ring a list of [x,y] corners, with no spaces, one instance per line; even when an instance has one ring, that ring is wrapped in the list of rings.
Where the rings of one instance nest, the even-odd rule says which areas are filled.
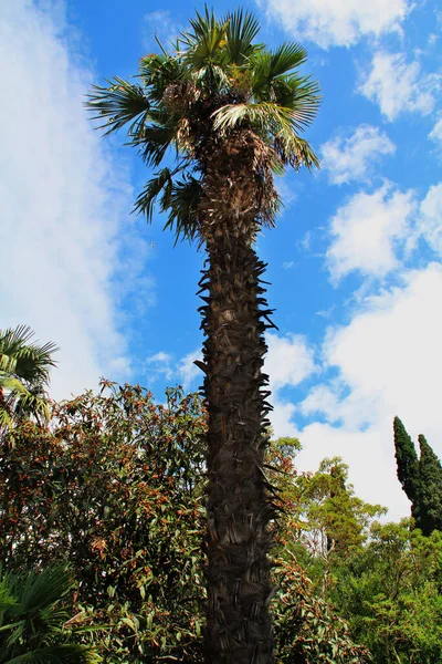
[[[324,456],[343,456],[357,492],[388,506],[389,518],[409,513],[396,478],[394,415],[413,439],[424,433],[442,455],[441,299],[439,263],[409,271],[401,288],[369,298],[348,325],[330,330],[324,344],[325,366],[338,376],[317,385],[299,405],[304,415],[326,419],[296,432],[304,447],[301,468],[315,468]]]

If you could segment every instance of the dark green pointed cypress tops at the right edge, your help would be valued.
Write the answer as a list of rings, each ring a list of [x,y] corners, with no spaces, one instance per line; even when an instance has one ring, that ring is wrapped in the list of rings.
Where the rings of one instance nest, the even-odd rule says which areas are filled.
[[[394,417],[398,478],[411,500],[417,528],[429,536],[442,530],[442,466],[425,437],[419,435],[420,458],[399,417]]]

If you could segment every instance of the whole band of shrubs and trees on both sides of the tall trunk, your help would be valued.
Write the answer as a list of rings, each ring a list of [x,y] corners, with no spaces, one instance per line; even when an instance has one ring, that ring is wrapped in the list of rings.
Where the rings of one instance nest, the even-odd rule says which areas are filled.
[[[69,563],[74,583],[54,643],[93,645],[84,656],[109,664],[203,662],[206,432],[197,395],[170,390],[161,405],[107,382],[53,404],[50,424],[3,432],[3,570]],[[272,443],[266,465],[277,662],[440,664],[442,533],[379,525],[382,508],[355,496],[341,459],[298,474],[298,447]]]

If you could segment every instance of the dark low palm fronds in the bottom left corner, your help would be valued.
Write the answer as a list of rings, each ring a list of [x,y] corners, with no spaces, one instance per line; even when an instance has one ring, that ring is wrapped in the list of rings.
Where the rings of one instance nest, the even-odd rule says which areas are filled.
[[[60,602],[73,589],[64,566],[40,573],[6,573],[0,579],[1,664],[95,664],[102,657],[86,645],[65,643],[70,618]],[[75,622],[69,621],[67,624]],[[81,632],[77,626],[76,632]]]

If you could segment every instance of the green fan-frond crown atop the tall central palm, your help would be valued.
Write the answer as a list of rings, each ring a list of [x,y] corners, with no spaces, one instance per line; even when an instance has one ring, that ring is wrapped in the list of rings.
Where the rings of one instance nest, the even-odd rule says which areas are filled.
[[[135,209],[149,220],[158,199],[177,237],[200,236],[211,160],[228,152],[252,165],[253,218],[273,225],[280,206],[273,174],[318,166],[299,137],[320,100],[317,82],[298,73],[306,51],[297,43],[273,51],[254,43],[259,23],[242,10],[217,20],[206,9],[190,24],[173,52],[160,44],[160,54],[141,58],[139,83],[115,76],[106,87],[95,85],[87,106],[107,118],[106,134],[126,126],[148,166],[158,168],[175,151],[175,167],[157,170],[137,198]]]

